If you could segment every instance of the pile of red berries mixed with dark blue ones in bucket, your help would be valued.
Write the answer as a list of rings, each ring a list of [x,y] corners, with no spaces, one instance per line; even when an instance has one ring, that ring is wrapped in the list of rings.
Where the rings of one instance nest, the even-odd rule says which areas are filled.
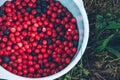
[[[0,65],[24,77],[66,67],[79,40],[76,19],[55,0],[12,0],[0,7]]]

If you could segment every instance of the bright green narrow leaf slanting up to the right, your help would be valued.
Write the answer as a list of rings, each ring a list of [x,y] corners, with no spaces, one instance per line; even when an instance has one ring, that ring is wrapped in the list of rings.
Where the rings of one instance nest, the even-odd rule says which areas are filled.
[[[107,47],[108,43],[110,42],[110,40],[111,40],[113,37],[114,37],[114,34],[112,34],[112,35],[110,35],[108,38],[106,38],[106,39],[103,41],[102,45],[100,45],[99,47],[97,47],[97,51],[102,51],[102,50],[104,50],[104,49]]]

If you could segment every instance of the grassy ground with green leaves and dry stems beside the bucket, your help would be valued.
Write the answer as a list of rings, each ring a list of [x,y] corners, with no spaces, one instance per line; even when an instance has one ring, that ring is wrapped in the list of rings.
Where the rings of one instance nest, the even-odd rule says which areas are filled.
[[[81,61],[58,80],[120,80],[120,1],[84,0],[90,39]]]

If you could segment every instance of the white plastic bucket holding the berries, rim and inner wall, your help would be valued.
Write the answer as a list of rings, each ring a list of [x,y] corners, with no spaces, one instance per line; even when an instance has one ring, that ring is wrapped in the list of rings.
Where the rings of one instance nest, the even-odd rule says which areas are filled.
[[[11,0],[1,0],[0,5],[4,4],[5,1]],[[69,72],[81,59],[88,42],[89,37],[89,23],[87,14],[83,5],[82,0],[58,0],[60,1],[68,10],[73,14],[73,16],[77,19],[77,25],[79,29],[79,46],[76,55],[72,59],[71,63],[65,67],[63,70],[59,71],[56,74],[42,77],[42,78],[26,78],[15,75],[2,66],[0,66],[0,79],[7,80],[54,80],[67,72]]]

